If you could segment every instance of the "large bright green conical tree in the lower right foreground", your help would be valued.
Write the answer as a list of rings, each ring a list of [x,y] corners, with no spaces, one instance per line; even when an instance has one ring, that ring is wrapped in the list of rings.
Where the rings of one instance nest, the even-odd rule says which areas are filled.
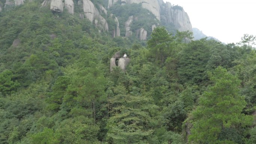
[[[235,132],[231,129],[252,125],[252,117],[241,113],[246,102],[238,93],[240,81],[221,67],[216,68],[210,80],[213,86],[204,92],[192,112],[189,140],[203,144],[239,143],[241,139],[229,136]]]

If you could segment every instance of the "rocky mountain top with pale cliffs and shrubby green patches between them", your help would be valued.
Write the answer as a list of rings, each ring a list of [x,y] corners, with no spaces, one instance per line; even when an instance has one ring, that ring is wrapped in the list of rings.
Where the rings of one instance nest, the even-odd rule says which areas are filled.
[[[2,1],[0,11],[28,2]],[[164,3],[163,0],[109,0],[107,4],[90,0],[44,0],[42,6],[49,7],[56,13],[67,10],[71,15],[78,14],[81,19],[89,19],[99,32],[110,31],[112,37],[134,35],[140,40],[146,40],[153,28],[161,25],[174,34],[176,30],[192,31],[189,16],[183,8],[169,2]],[[141,10],[141,7],[147,11]],[[122,10],[119,11],[120,9]]]

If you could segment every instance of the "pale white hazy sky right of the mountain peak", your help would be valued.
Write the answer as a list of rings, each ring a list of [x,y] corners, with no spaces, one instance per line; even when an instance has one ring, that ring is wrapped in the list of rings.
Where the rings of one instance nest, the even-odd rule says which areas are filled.
[[[256,35],[256,0],[164,0],[182,6],[192,27],[224,43]]]

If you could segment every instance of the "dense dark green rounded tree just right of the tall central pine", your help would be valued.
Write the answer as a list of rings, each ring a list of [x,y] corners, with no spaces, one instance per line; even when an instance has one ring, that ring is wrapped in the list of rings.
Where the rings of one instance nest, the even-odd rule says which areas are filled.
[[[182,83],[200,83],[207,78],[209,47],[205,39],[192,41],[179,54],[178,74]]]

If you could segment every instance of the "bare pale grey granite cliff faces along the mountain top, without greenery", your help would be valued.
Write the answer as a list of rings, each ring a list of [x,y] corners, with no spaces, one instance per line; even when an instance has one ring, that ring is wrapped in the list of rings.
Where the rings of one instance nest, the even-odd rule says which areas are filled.
[[[18,6],[24,4],[26,1],[31,0],[5,0],[5,3],[0,3],[0,12],[1,10],[7,9],[10,6]],[[80,18],[87,18],[95,27],[99,29],[99,32],[102,31],[111,31],[112,37],[120,36],[121,30],[119,25],[124,25],[125,34],[123,36],[130,37],[132,34],[137,36],[140,40],[146,40],[147,36],[150,35],[151,31],[157,25],[164,25],[167,30],[173,29],[173,31],[192,31],[192,25],[189,20],[188,14],[180,6],[173,6],[171,3],[164,3],[163,0],[109,0],[107,7],[110,9],[114,4],[119,3],[121,6],[125,4],[141,4],[141,7],[149,10],[155,16],[155,24],[151,24],[150,28],[145,28],[143,26],[132,29],[132,24],[138,22],[136,16],[130,15],[126,21],[120,23],[119,18],[109,13],[103,5],[99,3],[92,3],[91,0],[44,0],[41,4],[42,6],[49,7],[52,12],[60,13],[64,9],[67,9],[67,12],[74,15],[74,6],[81,7],[79,15]],[[82,12],[81,12],[82,11]],[[152,15],[151,14],[151,15]],[[110,29],[107,19],[112,19],[112,25],[115,26]],[[168,29],[168,27],[171,27]]]

